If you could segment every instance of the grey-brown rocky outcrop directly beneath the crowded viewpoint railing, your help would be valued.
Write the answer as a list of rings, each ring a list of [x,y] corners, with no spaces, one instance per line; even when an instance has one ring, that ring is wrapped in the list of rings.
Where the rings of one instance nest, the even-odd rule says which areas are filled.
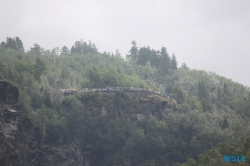
[[[98,92],[93,92],[92,95]],[[168,101],[158,95],[136,95],[136,93],[121,92],[122,102],[114,102],[115,93],[102,94],[101,101],[93,102],[87,99],[82,100],[83,108],[91,110],[95,115],[108,116],[110,118],[122,118],[128,123],[137,123],[147,119],[146,112],[157,113],[168,107]],[[63,102],[65,107],[69,107]]]

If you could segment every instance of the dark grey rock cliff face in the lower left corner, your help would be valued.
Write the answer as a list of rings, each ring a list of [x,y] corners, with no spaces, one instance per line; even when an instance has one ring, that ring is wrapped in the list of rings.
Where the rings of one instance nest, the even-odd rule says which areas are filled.
[[[88,165],[80,142],[41,143],[31,119],[17,109],[18,89],[0,81],[0,165],[79,166]]]

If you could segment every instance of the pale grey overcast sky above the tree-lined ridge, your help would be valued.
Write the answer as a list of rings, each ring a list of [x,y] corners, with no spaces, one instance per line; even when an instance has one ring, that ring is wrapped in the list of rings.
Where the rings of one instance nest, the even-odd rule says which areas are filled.
[[[0,41],[25,49],[91,40],[126,56],[131,41],[176,55],[178,64],[250,86],[250,0],[0,0]]]

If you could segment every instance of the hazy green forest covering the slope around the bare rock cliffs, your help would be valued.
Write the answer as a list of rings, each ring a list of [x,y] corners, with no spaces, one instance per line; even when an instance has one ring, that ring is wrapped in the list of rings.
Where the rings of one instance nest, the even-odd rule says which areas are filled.
[[[92,42],[46,50],[37,43],[24,50],[19,37],[0,44],[0,77],[20,91],[19,108],[32,118],[41,142],[81,139],[96,165],[227,165],[223,155],[250,160],[250,91],[212,72],[190,69],[166,47],[138,47],[132,41],[126,59],[98,52]],[[136,87],[168,96],[164,109],[141,110],[136,125],[124,117],[100,116],[89,109],[105,103],[119,108],[147,103],[124,93],[63,96],[59,89]],[[144,107],[143,107],[144,108]],[[138,107],[140,109],[140,107]],[[177,163],[179,162],[179,163]],[[185,162],[185,163],[184,163]],[[180,164],[183,163],[183,164]],[[242,163],[241,163],[242,164]]]

